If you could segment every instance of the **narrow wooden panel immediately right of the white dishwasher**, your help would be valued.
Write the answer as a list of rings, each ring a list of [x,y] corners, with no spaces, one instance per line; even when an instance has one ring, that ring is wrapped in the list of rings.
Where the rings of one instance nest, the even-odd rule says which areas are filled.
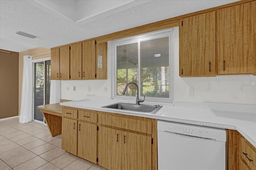
[[[240,133],[228,130],[228,170],[239,170]]]

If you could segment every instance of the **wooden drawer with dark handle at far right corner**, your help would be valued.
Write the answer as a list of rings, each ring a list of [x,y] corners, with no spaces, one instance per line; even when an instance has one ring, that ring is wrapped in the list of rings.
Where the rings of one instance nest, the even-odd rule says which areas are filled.
[[[242,162],[245,162],[250,169],[256,169],[256,149],[246,141],[243,137],[241,137],[241,159]]]

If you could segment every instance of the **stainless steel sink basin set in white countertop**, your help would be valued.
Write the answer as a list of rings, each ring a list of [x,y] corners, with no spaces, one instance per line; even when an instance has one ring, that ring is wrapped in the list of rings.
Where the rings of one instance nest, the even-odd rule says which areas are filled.
[[[159,109],[163,106],[151,106],[151,105],[136,105],[136,104],[129,104],[129,103],[115,103],[110,104],[108,106],[102,106],[104,108],[111,108],[111,109],[122,109],[122,110],[130,110],[130,111],[140,111],[146,113],[155,114]]]

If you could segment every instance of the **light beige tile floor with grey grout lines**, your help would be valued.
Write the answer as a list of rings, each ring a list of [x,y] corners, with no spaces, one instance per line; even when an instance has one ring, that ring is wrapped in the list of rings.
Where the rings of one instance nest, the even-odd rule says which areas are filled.
[[[0,121],[0,170],[106,170],[61,149],[61,135],[18,118]]]

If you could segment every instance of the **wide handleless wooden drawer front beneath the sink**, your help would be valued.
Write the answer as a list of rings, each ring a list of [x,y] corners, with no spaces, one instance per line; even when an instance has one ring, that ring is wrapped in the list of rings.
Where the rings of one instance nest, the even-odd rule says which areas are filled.
[[[152,134],[151,121],[98,114],[98,122],[102,125],[109,125],[132,131]]]

